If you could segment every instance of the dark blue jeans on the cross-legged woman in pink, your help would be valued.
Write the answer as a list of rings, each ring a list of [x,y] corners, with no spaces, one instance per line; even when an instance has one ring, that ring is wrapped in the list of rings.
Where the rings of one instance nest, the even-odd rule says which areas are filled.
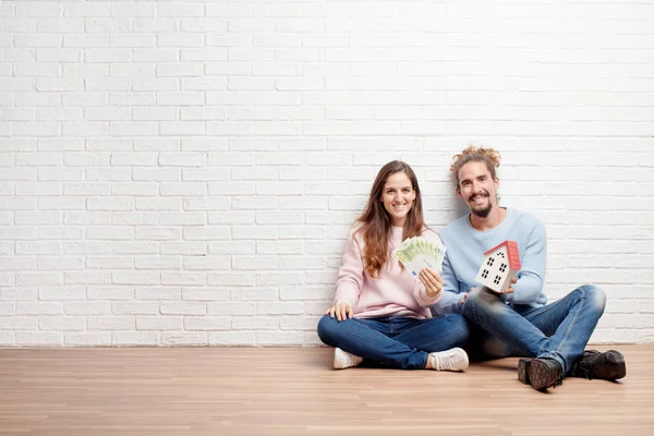
[[[463,347],[470,332],[461,315],[436,318],[352,318],[339,322],[325,315],[318,336],[328,346],[377,363],[402,370],[422,370],[431,352]]]

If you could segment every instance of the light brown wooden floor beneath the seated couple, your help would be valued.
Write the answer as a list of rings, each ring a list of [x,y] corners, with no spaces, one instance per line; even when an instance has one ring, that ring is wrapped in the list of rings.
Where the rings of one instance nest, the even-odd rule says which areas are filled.
[[[600,349],[606,349],[606,347]],[[0,349],[0,435],[652,435],[654,346],[621,383],[331,370],[330,349]]]

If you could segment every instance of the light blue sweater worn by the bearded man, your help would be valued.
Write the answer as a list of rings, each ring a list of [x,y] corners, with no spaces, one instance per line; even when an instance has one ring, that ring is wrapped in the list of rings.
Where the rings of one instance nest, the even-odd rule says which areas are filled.
[[[433,313],[461,313],[463,293],[480,286],[475,277],[484,253],[507,240],[518,243],[522,269],[516,275],[518,282],[513,284],[513,293],[502,294],[502,300],[511,305],[532,307],[547,302],[543,292],[547,256],[545,225],[535,216],[507,208],[499,226],[479,231],[465,215],[443,229],[440,239],[447,247],[441,272],[445,294],[432,306]]]

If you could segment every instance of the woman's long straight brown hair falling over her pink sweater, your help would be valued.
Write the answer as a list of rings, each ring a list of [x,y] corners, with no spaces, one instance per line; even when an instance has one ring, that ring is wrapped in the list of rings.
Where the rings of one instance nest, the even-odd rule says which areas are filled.
[[[413,172],[409,165],[401,160],[393,160],[386,164],[382,167],[373,183],[365,210],[356,219],[356,222],[361,222],[361,227],[356,230],[356,233],[362,233],[365,243],[363,253],[365,270],[368,271],[373,278],[378,277],[379,270],[390,258],[389,243],[392,233],[392,223],[390,221],[390,215],[384,207],[384,203],[380,198],[386,181],[390,175],[398,172],[407,174],[415,190],[415,199],[413,201],[411,210],[409,210],[409,214],[407,215],[407,222],[404,222],[402,241],[407,238],[421,235],[425,228],[422,196],[415,172]]]

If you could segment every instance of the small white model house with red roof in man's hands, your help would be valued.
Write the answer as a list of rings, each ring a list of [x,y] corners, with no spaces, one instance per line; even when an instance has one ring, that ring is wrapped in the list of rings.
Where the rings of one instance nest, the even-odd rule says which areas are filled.
[[[511,277],[521,268],[518,243],[505,241],[484,253],[484,262],[475,280],[495,292],[505,292]]]

